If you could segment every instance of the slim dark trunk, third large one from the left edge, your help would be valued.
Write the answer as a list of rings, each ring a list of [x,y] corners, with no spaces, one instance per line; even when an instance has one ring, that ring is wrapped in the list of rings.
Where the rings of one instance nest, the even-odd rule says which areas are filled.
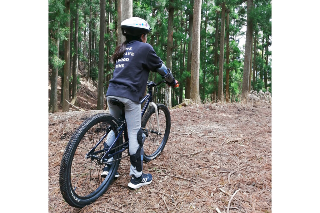
[[[75,19],[75,55],[73,57],[73,80],[72,80],[72,100],[71,103],[77,106],[77,80],[78,80],[78,28],[79,28],[79,4],[76,3],[76,19]]]

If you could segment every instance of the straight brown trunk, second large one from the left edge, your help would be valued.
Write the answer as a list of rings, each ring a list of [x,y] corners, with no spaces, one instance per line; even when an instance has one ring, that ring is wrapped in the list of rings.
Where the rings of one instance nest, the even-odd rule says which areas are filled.
[[[65,12],[70,14],[70,0],[65,0]],[[66,21],[66,27],[70,28],[70,17]],[[69,103],[66,101],[69,99],[69,75],[70,75],[70,34],[67,34],[67,40],[64,41],[64,60],[65,64],[63,67],[63,101],[62,101],[62,111],[69,111]]]

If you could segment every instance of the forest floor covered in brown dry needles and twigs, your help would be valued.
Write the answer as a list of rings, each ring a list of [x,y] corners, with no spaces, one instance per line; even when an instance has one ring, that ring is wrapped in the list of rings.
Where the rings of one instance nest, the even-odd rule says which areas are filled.
[[[168,142],[143,167],[150,185],[128,188],[125,158],[103,196],[82,209],[69,206],[59,188],[63,152],[83,119],[103,111],[95,110],[95,86],[81,81],[78,108],[85,111],[48,115],[49,212],[271,212],[271,104],[262,102],[171,109]]]

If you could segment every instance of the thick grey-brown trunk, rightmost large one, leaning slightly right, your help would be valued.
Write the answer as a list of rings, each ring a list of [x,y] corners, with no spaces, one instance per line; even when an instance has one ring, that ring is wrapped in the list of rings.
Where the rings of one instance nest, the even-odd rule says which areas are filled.
[[[244,50],[244,67],[242,79],[242,98],[246,99],[249,93],[249,74],[250,74],[250,57],[252,52],[252,19],[250,11],[252,10],[253,0],[248,0],[247,4],[247,32],[245,36],[245,50]]]

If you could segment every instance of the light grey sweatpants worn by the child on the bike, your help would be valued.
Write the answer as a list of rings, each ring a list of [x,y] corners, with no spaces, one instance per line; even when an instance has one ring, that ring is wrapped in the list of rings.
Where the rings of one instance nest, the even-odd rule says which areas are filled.
[[[108,102],[110,114],[116,118],[120,118],[121,109],[118,106],[110,103],[111,99],[117,99],[122,103],[124,103],[124,106],[125,106],[124,114],[127,122],[128,137],[129,137],[129,153],[130,155],[133,155],[137,152],[139,148],[137,133],[141,127],[141,105],[140,103],[133,102],[130,99],[127,99],[124,97],[107,96],[107,102]],[[111,139],[112,137],[115,138],[114,133],[112,133],[112,135],[111,134],[108,135],[107,141],[112,143],[114,140],[108,140],[108,139]],[[108,144],[108,146],[111,146],[111,144]],[[142,171],[137,171],[136,167],[131,165],[129,175],[130,176],[134,175],[135,177],[139,178],[142,175]]]

